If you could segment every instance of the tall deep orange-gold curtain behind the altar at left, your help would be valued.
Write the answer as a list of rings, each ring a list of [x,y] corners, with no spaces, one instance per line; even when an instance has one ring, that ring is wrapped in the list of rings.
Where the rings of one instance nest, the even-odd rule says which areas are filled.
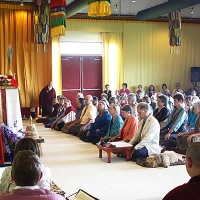
[[[22,10],[23,9],[23,10]],[[51,41],[33,42],[33,7],[0,4],[0,70],[8,72],[7,49],[14,48],[11,70],[20,87],[21,107],[38,106],[40,90],[52,79]]]

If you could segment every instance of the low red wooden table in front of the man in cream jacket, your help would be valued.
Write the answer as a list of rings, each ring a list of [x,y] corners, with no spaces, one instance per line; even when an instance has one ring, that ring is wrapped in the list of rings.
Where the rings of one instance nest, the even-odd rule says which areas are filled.
[[[100,144],[96,144],[99,149],[99,158],[102,158],[102,151],[107,152],[108,154],[108,163],[111,163],[111,153],[126,153],[126,161],[130,160],[130,153],[132,146],[123,146],[123,147],[103,147]]]

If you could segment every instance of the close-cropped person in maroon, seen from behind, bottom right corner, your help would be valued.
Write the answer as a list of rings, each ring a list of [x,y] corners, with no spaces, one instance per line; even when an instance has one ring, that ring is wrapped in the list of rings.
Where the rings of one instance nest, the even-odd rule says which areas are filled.
[[[186,152],[186,170],[191,179],[188,183],[171,190],[163,200],[198,200],[200,194],[200,143],[191,144]]]

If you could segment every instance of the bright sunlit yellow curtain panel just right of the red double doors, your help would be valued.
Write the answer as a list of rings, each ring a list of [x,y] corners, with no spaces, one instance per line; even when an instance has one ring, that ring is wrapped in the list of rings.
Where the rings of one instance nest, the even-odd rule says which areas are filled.
[[[102,88],[109,84],[113,95],[123,82],[122,52],[122,33],[102,33]]]

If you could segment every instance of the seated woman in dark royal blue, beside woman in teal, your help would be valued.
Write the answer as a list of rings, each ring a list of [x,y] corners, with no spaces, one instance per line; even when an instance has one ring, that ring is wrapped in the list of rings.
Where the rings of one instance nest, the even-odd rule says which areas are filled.
[[[101,100],[98,104],[98,115],[95,118],[95,122],[91,124],[88,131],[82,131],[80,139],[84,142],[92,142],[96,144],[101,137],[104,137],[108,132],[108,128],[111,122],[111,115],[108,112],[106,102]]]

